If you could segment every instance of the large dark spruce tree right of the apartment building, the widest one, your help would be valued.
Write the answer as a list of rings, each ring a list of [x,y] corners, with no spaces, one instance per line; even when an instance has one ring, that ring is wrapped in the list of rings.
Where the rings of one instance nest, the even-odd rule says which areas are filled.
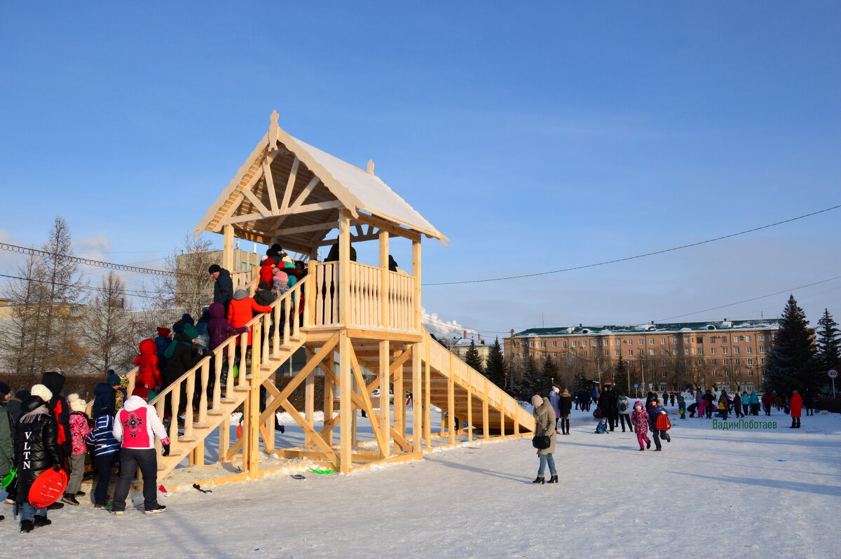
[[[803,393],[817,386],[815,346],[808,324],[794,295],[789,296],[765,366],[764,390],[790,395],[792,390]]]

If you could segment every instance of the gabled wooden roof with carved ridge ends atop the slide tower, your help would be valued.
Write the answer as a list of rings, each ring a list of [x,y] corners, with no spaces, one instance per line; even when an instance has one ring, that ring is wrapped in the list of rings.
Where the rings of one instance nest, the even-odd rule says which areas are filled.
[[[287,134],[272,113],[267,134],[236,172],[228,187],[198,222],[194,233],[220,232],[225,224],[235,236],[265,245],[309,252],[338,226],[340,208],[352,216],[352,240],[376,237],[376,229],[409,238],[426,235],[446,244],[442,235],[409,203],[373,174],[341,161]]]

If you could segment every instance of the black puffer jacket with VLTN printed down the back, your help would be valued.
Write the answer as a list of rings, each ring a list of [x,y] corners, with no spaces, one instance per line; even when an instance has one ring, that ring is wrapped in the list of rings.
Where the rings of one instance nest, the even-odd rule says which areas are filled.
[[[14,456],[18,466],[18,503],[29,499],[29,488],[47,468],[61,465],[58,424],[39,396],[30,396],[23,406],[14,435]]]

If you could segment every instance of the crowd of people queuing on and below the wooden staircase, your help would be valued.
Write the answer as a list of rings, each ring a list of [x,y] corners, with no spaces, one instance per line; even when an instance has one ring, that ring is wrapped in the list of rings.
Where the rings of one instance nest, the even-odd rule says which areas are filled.
[[[90,407],[77,394],[62,394],[66,377],[59,372],[45,372],[40,383],[16,393],[0,382],[0,478],[8,481],[4,483],[5,503],[13,505],[14,513],[19,514],[20,531],[26,533],[50,525],[50,509],[79,504],[77,498],[85,495],[80,489],[86,461],[95,470],[95,507],[108,506],[109,483],[117,467],[118,482],[110,495],[112,514],[124,514],[138,470],[143,482],[143,512],[157,514],[166,509],[157,502],[155,441],[161,442],[162,456],[168,456],[167,427],[173,420],[171,394],[167,394],[163,418],[148,402],[205,356],[214,358],[213,351],[231,335],[249,333],[246,346],[251,347],[251,329],[246,324],[256,313],[270,312],[269,305],[294,287],[306,272],[303,261],[293,262],[279,245],[272,245],[262,261],[259,286],[251,297],[246,289],[234,290],[229,271],[216,264],[209,266],[208,273],[214,279],[213,303],[198,320],[183,314],[171,328],[160,326],[156,337],[140,341],[134,361],[138,372],[131,394],[125,393],[124,379],[113,370],[93,389]],[[283,324],[279,327],[282,329]],[[225,349],[222,357],[239,359],[240,351],[237,345],[234,355],[229,356]],[[227,370],[223,367],[223,371]],[[225,378],[222,381],[224,386]],[[208,390],[213,388],[211,384]],[[196,392],[198,400],[200,393]],[[180,395],[177,416],[191,404],[187,402],[186,387],[181,388]],[[49,506],[35,506],[30,503],[30,489],[50,469],[66,472],[65,493]],[[4,518],[0,514],[0,520]]]

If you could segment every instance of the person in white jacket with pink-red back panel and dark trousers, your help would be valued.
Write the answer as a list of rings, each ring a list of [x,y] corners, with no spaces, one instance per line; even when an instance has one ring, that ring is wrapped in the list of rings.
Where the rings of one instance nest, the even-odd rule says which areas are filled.
[[[129,488],[138,467],[143,477],[143,512],[163,512],[167,507],[157,502],[155,437],[161,440],[163,456],[169,456],[169,437],[155,408],[146,403],[135,390],[117,412],[113,433],[114,439],[122,443],[122,448],[119,451],[119,482],[114,490],[114,507],[111,512],[117,516],[124,514],[125,498],[129,496]]]

